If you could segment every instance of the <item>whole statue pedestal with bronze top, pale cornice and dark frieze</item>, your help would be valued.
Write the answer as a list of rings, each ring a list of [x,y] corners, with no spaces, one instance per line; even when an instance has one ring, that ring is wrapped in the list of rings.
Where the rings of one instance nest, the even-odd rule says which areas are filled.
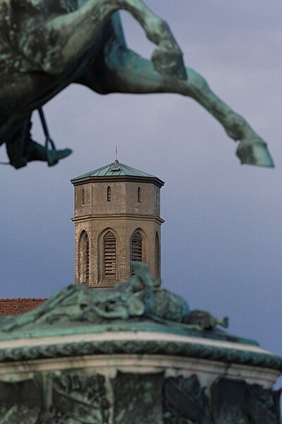
[[[0,423],[280,423],[282,358],[190,316],[135,276],[116,289],[72,285],[2,319]]]

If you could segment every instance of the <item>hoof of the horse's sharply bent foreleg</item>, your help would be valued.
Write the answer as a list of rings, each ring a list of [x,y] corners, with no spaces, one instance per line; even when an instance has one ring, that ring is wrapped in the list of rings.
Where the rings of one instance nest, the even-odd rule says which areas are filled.
[[[164,48],[155,49],[152,54],[154,69],[162,76],[187,80],[188,76],[185,70],[183,55],[178,50],[168,51]]]

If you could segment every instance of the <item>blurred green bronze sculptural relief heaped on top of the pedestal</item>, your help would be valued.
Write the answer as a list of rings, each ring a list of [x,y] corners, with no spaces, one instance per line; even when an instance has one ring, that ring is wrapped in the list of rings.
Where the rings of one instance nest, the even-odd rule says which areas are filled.
[[[190,313],[188,303],[162,289],[161,281],[152,278],[146,264],[135,261],[132,267],[134,275],[127,284],[99,290],[70,285],[36,310],[6,319],[3,334],[13,336],[18,331],[20,334],[25,334],[25,331],[30,334],[30,329],[68,331],[70,322],[73,329],[80,328],[81,323],[90,323],[100,331],[116,325],[121,327],[124,323],[127,326],[128,322],[138,325],[141,317],[142,325],[145,318],[151,323],[180,331],[213,330],[216,324],[222,325],[221,319],[215,319],[208,312]]]

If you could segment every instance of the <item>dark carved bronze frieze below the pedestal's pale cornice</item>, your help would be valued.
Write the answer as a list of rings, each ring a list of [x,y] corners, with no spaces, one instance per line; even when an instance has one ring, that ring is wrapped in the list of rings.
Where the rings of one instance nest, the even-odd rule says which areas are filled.
[[[0,382],[0,424],[281,424],[279,396],[235,379],[67,370]]]

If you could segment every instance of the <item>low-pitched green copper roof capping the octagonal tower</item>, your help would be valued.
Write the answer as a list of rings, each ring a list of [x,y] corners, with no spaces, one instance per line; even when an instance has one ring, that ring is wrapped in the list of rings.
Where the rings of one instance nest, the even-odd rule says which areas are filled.
[[[112,177],[112,176],[132,176],[132,177],[147,177],[156,178],[154,175],[147,174],[140,170],[136,170],[133,167],[119,163],[116,159],[113,163],[100,167],[97,170],[87,172],[86,174],[80,175],[79,177],[73,178],[71,181],[76,179],[82,179],[87,177]]]

